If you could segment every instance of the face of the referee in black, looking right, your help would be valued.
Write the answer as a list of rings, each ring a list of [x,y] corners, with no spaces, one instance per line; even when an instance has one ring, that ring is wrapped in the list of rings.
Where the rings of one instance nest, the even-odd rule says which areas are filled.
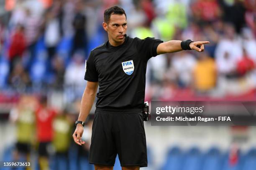
[[[103,28],[108,32],[108,39],[111,45],[121,45],[125,40],[127,22],[125,15],[112,14],[108,23],[103,23]]]

